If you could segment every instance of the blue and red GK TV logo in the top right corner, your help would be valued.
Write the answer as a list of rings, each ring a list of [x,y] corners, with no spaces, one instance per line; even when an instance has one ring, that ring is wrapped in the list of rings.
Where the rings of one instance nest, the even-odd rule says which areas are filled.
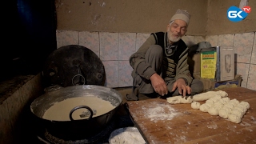
[[[240,22],[247,17],[250,10],[250,6],[244,6],[242,10],[236,6],[230,6],[227,10],[227,18],[229,18],[231,22]]]

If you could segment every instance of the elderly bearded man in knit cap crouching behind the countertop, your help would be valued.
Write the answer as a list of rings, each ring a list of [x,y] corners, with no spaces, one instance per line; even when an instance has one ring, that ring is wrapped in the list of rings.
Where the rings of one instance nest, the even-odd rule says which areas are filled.
[[[150,34],[138,51],[130,56],[134,83],[132,93],[126,95],[127,100],[202,92],[202,82],[190,75],[188,48],[181,39],[189,22],[190,14],[186,10],[177,10],[167,25],[166,33]]]

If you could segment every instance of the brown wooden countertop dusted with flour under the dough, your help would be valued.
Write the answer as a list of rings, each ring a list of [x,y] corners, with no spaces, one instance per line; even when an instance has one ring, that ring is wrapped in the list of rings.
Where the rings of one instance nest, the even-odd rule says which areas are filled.
[[[127,102],[126,107],[147,143],[256,143],[256,91],[243,87],[223,91],[230,99],[250,103],[241,123],[194,110],[190,104],[171,105],[162,98]]]

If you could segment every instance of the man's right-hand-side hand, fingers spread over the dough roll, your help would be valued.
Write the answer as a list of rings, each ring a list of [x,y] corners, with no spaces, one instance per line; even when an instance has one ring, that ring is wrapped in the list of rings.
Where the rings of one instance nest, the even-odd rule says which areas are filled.
[[[178,78],[176,82],[174,82],[173,90],[176,90],[178,88],[178,94],[182,94],[183,97],[187,94],[191,94],[191,87],[186,86],[186,82],[183,78]]]

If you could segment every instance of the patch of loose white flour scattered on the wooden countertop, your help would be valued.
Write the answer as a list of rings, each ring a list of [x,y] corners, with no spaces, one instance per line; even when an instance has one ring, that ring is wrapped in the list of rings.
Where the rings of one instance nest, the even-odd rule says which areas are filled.
[[[170,105],[156,104],[154,107],[146,108],[146,118],[150,121],[171,120],[178,112]]]

